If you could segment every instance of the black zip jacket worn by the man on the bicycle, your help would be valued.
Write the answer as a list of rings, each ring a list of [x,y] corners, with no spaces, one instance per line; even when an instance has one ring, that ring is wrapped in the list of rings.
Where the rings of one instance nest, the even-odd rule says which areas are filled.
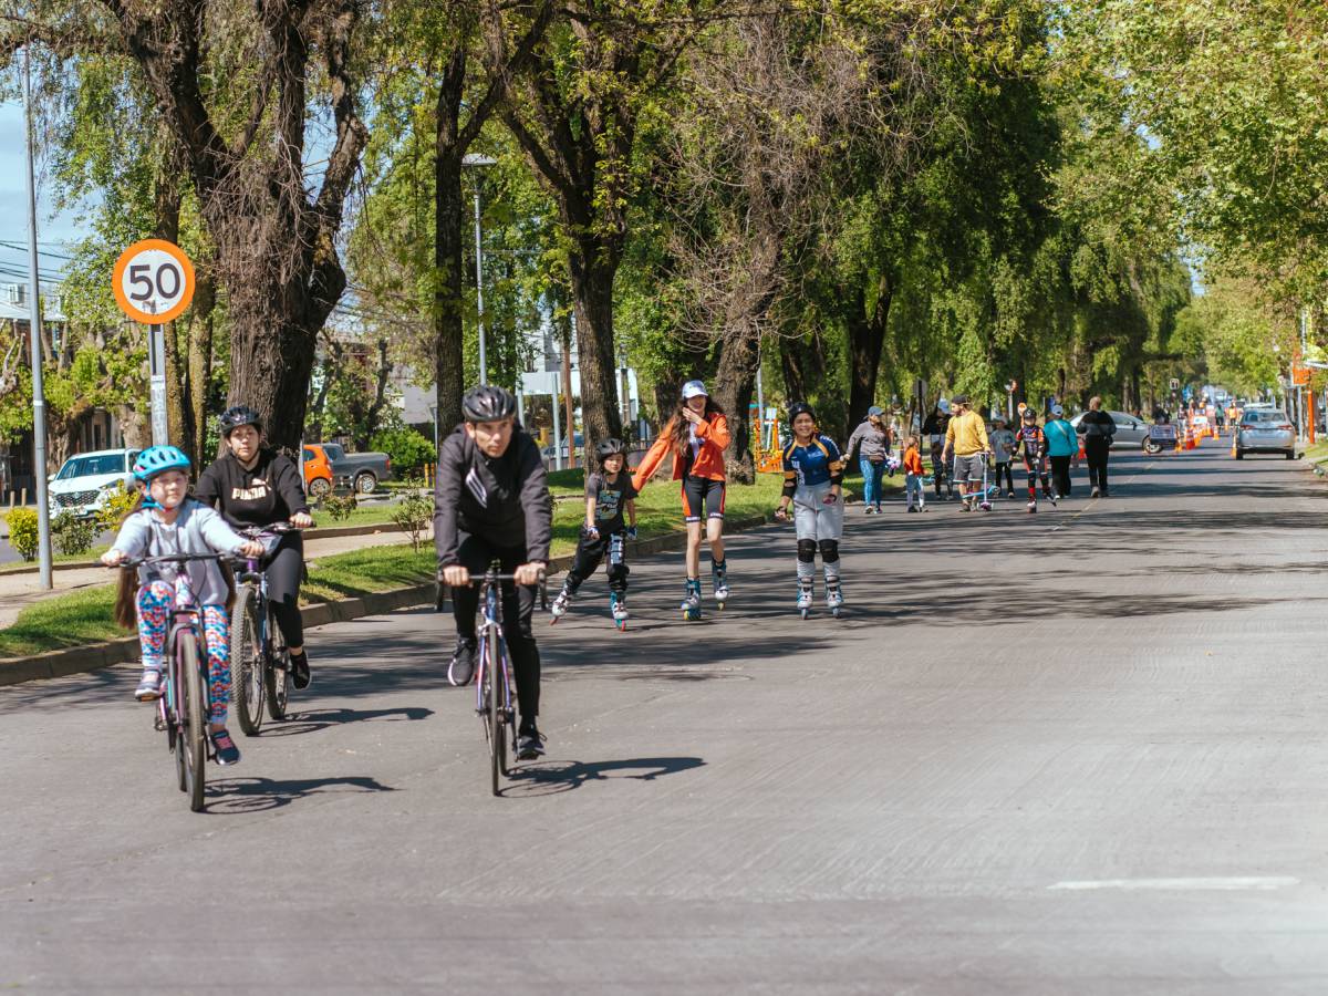
[[[548,560],[552,540],[548,475],[539,448],[519,426],[497,459],[481,453],[466,426],[442,441],[433,502],[438,567],[458,563],[458,533],[494,546],[525,547],[526,560]]]

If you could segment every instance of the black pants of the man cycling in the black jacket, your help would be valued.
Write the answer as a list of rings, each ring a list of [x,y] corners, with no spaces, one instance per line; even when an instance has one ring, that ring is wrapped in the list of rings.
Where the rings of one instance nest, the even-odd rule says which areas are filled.
[[[526,563],[526,547],[497,546],[483,537],[469,533],[458,534],[457,560],[475,582],[489,570],[494,560],[499,562],[503,574],[511,574]],[[475,614],[479,611],[479,584],[467,584],[452,590],[452,615],[457,620],[457,635],[475,639]],[[507,653],[511,669],[517,677],[517,703],[523,722],[534,722],[539,716],[539,647],[530,618],[535,611],[535,586],[517,587],[511,582],[502,584],[502,632],[507,640]]]

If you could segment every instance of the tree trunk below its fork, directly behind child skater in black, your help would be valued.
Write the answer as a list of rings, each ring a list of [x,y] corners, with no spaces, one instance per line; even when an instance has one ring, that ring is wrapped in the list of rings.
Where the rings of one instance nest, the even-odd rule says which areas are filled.
[[[594,239],[579,243],[568,256],[586,453],[594,453],[602,440],[622,438],[623,434],[614,369],[614,275],[618,262],[608,256]]]

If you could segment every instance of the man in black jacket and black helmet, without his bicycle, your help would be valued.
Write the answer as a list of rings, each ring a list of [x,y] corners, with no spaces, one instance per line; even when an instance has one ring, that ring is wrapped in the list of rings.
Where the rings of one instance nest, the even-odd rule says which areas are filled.
[[[535,586],[548,566],[552,513],[544,462],[535,441],[517,425],[517,398],[481,385],[461,401],[465,421],[438,449],[433,533],[438,570],[453,588],[457,649],[448,680],[465,685],[475,673],[475,612],[471,575],[498,560],[515,583],[502,586],[503,636],[517,679],[521,725],[517,757],[544,753],[539,716],[539,648],[531,629]]]

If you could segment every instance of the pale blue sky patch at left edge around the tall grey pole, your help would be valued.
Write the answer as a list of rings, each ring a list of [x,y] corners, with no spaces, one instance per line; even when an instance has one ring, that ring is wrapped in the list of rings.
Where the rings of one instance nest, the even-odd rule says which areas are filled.
[[[25,157],[23,105],[17,101],[0,101],[0,284],[15,283],[16,279],[25,282],[28,274]],[[78,238],[78,219],[69,211],[53,216],[50,199],[42,195],[40,174],[37,185],[37,248],[64,254],[64,247]],[[42,255],[40,268],[49,279],[56,275],[60,263],[56,255]]]

